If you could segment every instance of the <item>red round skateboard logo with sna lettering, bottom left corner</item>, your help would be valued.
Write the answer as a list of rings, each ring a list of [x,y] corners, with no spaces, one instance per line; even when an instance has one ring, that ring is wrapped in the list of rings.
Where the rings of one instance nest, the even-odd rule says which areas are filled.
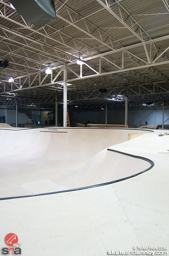
[[[9,233],[6,235],[5,237],[5,242],[7,244],[7,246],[12,246],[12,247],[3,247],[1,250],[1,253],[3,255],[18,255],[21,254],[21,248],[19,248],[19,246],[21,246],[20,243],[18,243],[18,237],[17,235],[15,235],[14,233]],[[15,247],[15,248],[14,248]],[[12,251],[12,253],[10,253]]]

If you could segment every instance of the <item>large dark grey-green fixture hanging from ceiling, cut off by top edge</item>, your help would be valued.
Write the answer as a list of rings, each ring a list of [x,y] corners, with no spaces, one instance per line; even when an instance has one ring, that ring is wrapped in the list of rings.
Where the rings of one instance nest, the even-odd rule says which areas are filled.
[[[56,19],[54,0],[10,0],[15,9],[32,24],[41,27]]]

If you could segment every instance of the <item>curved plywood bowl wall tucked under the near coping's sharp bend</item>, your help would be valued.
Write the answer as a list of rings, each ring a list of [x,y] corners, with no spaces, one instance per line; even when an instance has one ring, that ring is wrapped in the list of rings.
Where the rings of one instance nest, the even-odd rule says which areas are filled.
[[[104,150],[74,175],[76,187],[92,186],[131,177],[151,166],[145,159]]]

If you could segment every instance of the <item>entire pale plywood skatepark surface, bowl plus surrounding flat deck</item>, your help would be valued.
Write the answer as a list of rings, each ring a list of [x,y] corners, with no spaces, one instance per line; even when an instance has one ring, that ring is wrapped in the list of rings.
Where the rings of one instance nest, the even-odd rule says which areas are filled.
[[[24,255],[167,246],[169,136],[118,128],[0,132],[1,228],[17,233]]]

